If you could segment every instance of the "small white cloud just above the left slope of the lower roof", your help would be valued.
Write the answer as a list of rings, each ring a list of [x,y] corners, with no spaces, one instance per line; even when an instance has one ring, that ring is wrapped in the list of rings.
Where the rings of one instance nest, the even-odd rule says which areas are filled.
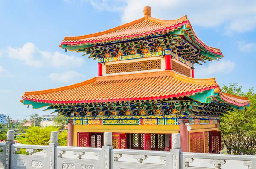
[[[73,83],[74,81],[83,81],[85,75],[70,70],[64,73],[52,73],[48,76],[53,82]]]

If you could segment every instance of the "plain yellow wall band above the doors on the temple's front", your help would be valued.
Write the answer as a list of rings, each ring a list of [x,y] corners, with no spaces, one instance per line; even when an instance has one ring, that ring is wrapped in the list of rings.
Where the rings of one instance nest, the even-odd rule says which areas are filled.
[[[74,125],[74,146],[77,146],[78,132],[117,133],[179,133],[179,125]]]

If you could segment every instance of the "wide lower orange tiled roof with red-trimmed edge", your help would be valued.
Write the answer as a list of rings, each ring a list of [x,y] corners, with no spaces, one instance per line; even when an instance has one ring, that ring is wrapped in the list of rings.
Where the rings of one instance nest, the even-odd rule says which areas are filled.
[[[190,97],[200,101],[214,98],[234,106],[248,106],[247,97],[221,92],[215,78],[195,79],[172,71],[94,77],[81,83],[35,92],[25,92],[23,100],[49,104],[99,103]],[[210,92],[214,91],[214,92]],[[22,100],[22,101],[23,101]],[[209,102],[209,101],[208,101]]]

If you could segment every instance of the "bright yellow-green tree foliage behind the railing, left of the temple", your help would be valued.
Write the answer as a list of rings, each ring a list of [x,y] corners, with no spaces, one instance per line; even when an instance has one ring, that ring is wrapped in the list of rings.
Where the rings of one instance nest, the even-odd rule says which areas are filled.
[[[39,127],[39,126],[29,126],[28,129],[25,129],[26,133],[23,133],[24,137],[18,138],[18,141],[21,144],[32,144],[32,145],[48,145],[51,132],[58,131],[59,128],[54,126]],[[58,134],[58,143],[61,146],[67,145],[67,132],[61,132]],[[66,144],[65,144],[66,143]]]

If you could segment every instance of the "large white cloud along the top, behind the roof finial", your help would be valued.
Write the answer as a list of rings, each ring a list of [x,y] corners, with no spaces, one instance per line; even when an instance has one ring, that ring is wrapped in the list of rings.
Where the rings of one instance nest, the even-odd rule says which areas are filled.
[[[193,25],[215,27],[224,24],[226,34],[256,27],[256,1],[247,0],[84,0],[97,10],[119,11],[122,23],[143,17],[143,7],[151,6],[151,16],[173,20],[187,15]],[[119,3],[116,3],[119,2]],[[121,7],[120,7],[121,6]]]

